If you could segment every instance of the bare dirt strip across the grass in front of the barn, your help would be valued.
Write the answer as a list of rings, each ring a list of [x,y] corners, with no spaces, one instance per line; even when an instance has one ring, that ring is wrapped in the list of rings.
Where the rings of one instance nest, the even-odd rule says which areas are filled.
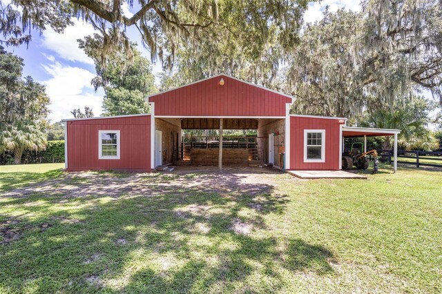
[[[230,168],[222,172],[211,168],[202,170],[180,169],[175,173],[115,173],[80,172],[66,173],[35,185],[9,190],[4,197],[28,197],[41,193],[57,197],[55,202],[81,197],[114,197],[122,195],[155,196],[164,193],[236,193],[261,195],[271,192],[278,170],[257,168]]]

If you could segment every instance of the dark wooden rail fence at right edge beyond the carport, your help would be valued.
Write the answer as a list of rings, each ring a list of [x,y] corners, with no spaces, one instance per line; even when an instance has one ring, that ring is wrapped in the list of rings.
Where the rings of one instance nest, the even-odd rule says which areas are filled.
[[[378,156],[389,163],[392,162],[393,150],[377,150]],[[401,160],[415,159],[415,160]],[[422,162],[430,161],[430,162]],[[433,163],[434,161],[434,163]],[[421,166],[431,166],[434,168],[442,168],[442,152],[441,151],[420,151],[420,150],[398,150],[398,164],[416,164],[416,168]]]

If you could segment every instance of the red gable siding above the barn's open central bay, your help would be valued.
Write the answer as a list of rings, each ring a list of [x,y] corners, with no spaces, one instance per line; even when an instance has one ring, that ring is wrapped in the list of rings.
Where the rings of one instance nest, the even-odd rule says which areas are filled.
[[[159,93],[149,102],[155,102],[155,116],[285,117],[291,98],[222,75]]]

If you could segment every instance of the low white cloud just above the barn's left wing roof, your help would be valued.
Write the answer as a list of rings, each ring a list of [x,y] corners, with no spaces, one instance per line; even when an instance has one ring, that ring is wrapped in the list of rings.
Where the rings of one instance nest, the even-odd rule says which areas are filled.
[[[64,66],[59,62],[41,66],[51,76],[43,82],[50,98],[49,119],[59,121],[73,118],[70,111],[75,108],[83,110],[85,106],[92,108],[95,116],[101,115],[103,94],[102,91],[93,92],[93,86],[90,85],[90,80],[95,77],[93,72]]]

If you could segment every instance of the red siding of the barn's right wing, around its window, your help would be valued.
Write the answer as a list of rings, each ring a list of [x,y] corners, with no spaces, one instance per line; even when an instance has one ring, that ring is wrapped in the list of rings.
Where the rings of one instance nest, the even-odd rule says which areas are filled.
[[[325,162],[304,162],[304,130],[325,130]],[[338,119],[290,117],[290,169],[338,170],[340,123]]]

